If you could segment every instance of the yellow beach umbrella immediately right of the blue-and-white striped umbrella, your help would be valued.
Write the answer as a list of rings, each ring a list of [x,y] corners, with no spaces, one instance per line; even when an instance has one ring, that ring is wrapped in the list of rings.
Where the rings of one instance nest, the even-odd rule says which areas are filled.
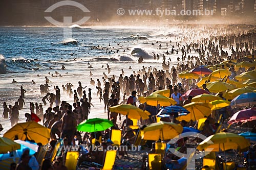
[[[183,107],[190,113],[177,117],[177,120],[179,121],[185,120],[186,122],[189,122],[190,120],[193,120],[195,122],[198,119],[204,118],[205,116],[207,117],[211,114],[210,106],[207,103],[192,102]]]

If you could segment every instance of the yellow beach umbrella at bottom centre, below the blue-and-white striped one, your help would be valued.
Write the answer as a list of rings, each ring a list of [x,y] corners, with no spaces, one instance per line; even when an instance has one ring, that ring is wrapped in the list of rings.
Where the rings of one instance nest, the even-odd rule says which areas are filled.
[[[158,122],[148,125],[143,129],[144,140],[168,140],[181,134],[183,127],[180,124]]]

